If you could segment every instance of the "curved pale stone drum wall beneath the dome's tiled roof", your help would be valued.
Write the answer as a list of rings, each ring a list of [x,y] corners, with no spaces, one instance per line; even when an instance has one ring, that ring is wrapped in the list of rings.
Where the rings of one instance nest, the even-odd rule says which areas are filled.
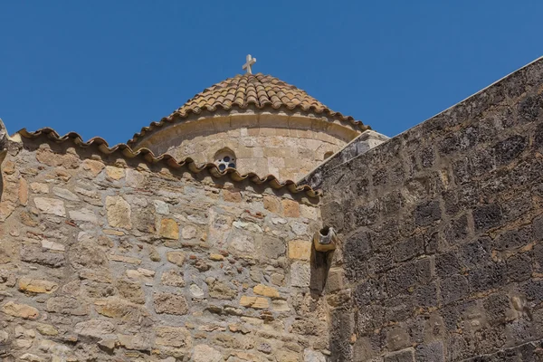
[[[249,111],[249,110],[248,110]],[[215,153],[230,148],[242,174],[298,180],[360,133],[350,123],[294,117],[284,112],[208,115],[156,129],[138,141],[156,155],[213,163]],[[326,156],[325,156],[326,155]]]

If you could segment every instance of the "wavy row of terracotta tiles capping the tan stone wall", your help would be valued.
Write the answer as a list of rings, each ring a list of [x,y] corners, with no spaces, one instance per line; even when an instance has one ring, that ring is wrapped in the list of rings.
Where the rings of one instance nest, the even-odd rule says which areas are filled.
[[[148,148],[139,148],[137,151],[134,151],[132,148],[124,143],[120,143],[119,145],[110,148],[108,142],[103,138],[90,138],[87,142],[85,142],[76,132],[70,132],[65,134],[64,136],[60,136],[54,129],[38,129],[35,132],[29,132],[26,129],[21,129],[17,133],[24,138],[46,138],[49,142],[54,143],[63,143],[71,140],[76,146],[81,148],[89,148],[92,146],[97,147],[98,150],[105,155],[119,152],[119,154],[125,158],[141,157],[149,164],[162,163],[165,164],[167,167],[176,169],[186,167],[186,169],[193,174],[199,174],[200,172],[207,170],[209,174],[211,176],[214,176],[215,178],[229,176],[230,179],[235,182],[240,182],[247,179],[252,182],[252,184],[266,184],[267,186],[270,186],[274,189],[285,189],[291,194],[305,193],[309,197],[319,197],[320,195],[320,191],[313,190],[310,186],[298,186],[292,180],[286,180],[281,182],[276,176],[273,175],[266,175],[260,177],[253,172],[242,175],[235,168],[226,168],[224,171],[220,171],[219,168],[212,163],[196,165],[195,161],[190,157],[186,157],[178,161],[176,160],[176,158],[168,154],[155,156],[153,152]]]

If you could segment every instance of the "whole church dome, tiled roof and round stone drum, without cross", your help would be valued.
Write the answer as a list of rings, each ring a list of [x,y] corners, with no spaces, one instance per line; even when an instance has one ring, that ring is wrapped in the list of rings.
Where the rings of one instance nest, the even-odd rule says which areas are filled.
[[[206,88],[128,144],[219,170],[299,179],[369,129],[304,90],[262,73]]]

